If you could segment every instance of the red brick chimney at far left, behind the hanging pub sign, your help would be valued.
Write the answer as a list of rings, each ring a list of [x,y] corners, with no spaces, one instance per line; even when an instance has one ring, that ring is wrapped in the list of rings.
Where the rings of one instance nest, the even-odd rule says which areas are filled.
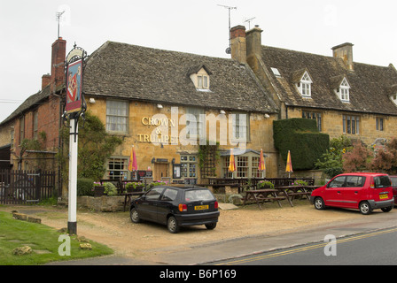
[[[52,43],[51,53],[51,92],[65,83],[66,41],[62,37]]]

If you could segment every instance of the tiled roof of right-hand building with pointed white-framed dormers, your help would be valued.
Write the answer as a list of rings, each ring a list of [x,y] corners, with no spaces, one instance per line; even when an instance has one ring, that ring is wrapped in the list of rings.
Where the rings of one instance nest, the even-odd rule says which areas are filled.
[[[287,106],[397,115],[397,106],[389,98],[397,84],[393,65],[354,62],[354,72],[349,72],[340,58],[269,46],[262,46],[261,57]],[[281,78],[271,72],[272,67],[278,69]],[[311,98],[303,98],[294,84],[297,74],[305,70],[313,80]],[[334,92],[345,76],[351,87],[350,103],[342,103]]]

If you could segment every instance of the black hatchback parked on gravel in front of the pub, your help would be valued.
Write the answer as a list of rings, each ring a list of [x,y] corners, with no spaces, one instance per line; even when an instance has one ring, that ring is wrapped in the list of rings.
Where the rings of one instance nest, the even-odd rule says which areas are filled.
[[[218,202],[206,187],[152,187],[131,202],[129,211],[133,223],[158,222],[170,233],[178,233],[180,226],[214,229],[219,218]]]

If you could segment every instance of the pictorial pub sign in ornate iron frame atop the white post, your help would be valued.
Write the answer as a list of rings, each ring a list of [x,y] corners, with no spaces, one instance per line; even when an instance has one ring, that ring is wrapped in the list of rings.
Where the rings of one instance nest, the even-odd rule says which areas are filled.
[[[87,53],[74,45],[74,49],[66,57],[66,113],[82,111],[84,98],[82,95],[83,63]]]

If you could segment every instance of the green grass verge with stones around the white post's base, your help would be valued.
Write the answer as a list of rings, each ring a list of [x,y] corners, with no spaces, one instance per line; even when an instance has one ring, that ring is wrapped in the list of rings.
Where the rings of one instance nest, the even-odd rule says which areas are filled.
[[[58,241],[56,229],[12,218],[12,213],[0,211],[0,265],[39,265],[54,261],[82,259],[113,254],[113,249],[88,241],[92,249],[80,249],[82,242],[76,235],[70,237],[70,256],[60,256],[58,248],[66,241]],[[15,256],[12,250],[29,246],[33,252],[29,255]],[[62,246],[61,250],[64,246]]]

